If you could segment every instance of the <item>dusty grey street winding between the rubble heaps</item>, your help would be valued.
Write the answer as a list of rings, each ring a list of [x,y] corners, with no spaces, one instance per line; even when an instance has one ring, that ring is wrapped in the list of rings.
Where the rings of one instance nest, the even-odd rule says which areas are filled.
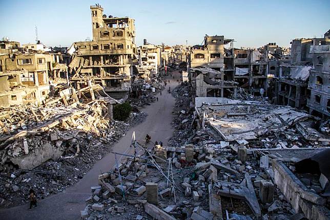
[[[176,78],[179,73],[176,72]],[[114,152],[123,153],[131,144],[132,133],[142,141],[148,133],[152,141],[162,141],[164,144],[172,136],[172,109],[175,98],[167,90],[177,86],[176,79],[170,79],[170,84],[157,95],[158,102],[147,106],[141,111],[148,113],[145,122],[131,128],[112,148]],[[126,152],[132,152],[128,149]],[[112,168],[115,164],[114,154],[107,154],[81,179],[65,192],[38,201],[38,207],[28,210],[29,204],[0,210],[0,219],[80,219],[80,210],[86,206],[85,199],[90,196],[90,187],[97,185],[97,175]]]

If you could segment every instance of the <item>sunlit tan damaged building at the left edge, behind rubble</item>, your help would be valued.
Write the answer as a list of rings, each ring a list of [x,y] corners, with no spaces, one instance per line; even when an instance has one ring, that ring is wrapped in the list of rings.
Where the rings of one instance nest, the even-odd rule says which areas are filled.
[[[50,92],[50,82],[68,82],[67,66],[60,63],[60,54],[35,50],[25,52],[16,42],[3,41],[2,45],[0,107],[40,104]]]

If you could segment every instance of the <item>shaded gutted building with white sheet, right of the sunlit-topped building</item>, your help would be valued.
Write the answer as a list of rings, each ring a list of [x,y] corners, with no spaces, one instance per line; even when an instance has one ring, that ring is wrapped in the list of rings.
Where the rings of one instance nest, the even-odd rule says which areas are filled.
[[[256,49],[234,49],[235,81],[251,94],[267,95],[267,62]]]

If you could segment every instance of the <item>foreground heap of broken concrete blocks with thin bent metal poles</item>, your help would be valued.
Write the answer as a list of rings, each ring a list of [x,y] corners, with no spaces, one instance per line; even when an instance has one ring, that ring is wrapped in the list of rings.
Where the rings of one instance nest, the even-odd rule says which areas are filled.
[[[260,152],[243,152],[156,145],[140,155],[126,154],[99,174],[81,218],[288,219],[296,214],[272,182],[272,157],[264,161]]]

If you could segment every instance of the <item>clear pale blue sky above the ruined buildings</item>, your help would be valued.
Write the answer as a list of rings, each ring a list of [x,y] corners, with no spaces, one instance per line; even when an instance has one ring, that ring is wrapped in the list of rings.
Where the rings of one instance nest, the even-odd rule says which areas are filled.
[[[92,38],[90,5],[104,14],[135,19],[136,45],[143,39],[166,45],[201,44],[205,34],[235,39],[234,46],[289,47],[294,38],[323,37],[330,28],[330,0],[0,0],[0,37],[20,44],[38,39],[69,47]]]

